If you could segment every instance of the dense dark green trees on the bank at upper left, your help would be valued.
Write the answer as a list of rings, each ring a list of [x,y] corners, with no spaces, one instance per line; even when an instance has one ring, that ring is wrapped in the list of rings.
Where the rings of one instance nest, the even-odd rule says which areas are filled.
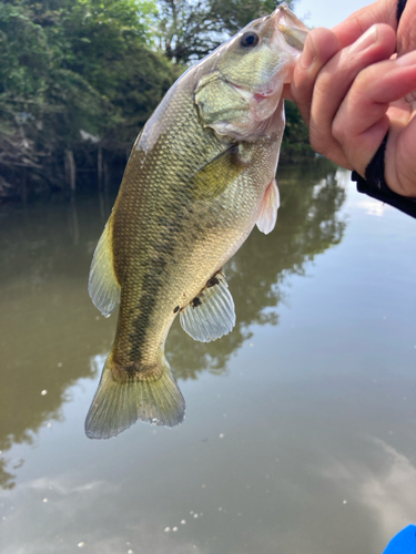
[[[21,167],[59,184],[48,162],[82,148],[81,130],[131,143],[177,74],[150,49],[154,10],[148,0],[0,3],[0,188]]]

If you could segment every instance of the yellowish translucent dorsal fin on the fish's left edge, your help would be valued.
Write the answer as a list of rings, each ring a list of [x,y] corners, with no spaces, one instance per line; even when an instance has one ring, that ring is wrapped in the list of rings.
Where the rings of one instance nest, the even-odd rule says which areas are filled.
[[[105,317],[114,311],[120,301],[120,285],[114,273],[111,234],[112,218],[110,216],[97,245],[88,283],[88,290],[94,306]]]

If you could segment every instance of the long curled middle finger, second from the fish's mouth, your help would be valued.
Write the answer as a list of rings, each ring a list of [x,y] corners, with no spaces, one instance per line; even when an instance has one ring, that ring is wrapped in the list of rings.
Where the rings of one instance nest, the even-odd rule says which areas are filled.
[[[366,66],[388,60],[395,51],[396,35],[385,24],[374,25],[354,44],[338,52],[321,71],[313,92],[310,136],[316,152],[344,167],[352,168],[352,161],[333,135],[333,121],[347,95],[356,75]],[[355,125],[356,114],[352,111]]]

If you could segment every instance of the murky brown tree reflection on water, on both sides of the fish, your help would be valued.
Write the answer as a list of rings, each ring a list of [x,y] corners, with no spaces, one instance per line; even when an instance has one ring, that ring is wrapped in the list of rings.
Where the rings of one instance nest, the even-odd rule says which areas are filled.
[[[282,283],[302,275],[318,253],[342,240],[345,192],[325,161],[280,172],[282,208],[277,227],[254,232],[226,268],[237,314],[234,331],[199,343],[175,325],[166,352],[179,379],[203,370],[222,372],[250,338],[253,324],[278,322]],[[90,360],[105,356],[115,317],[104,320],[89,299],[88,270],[108,212],[101,197],[70,205],[0,212],[0,486],[13,486],[21,461],[8,460],[12,444],[31,443],[41,427],[62,418],[68,389],[97,373]],[[177,324],[177,322],[176,322]],[[100,368],[101,369],[101,368]],[[42,393],[43,391],[43,393]],[[47,391],[44,393],[44,391]]]

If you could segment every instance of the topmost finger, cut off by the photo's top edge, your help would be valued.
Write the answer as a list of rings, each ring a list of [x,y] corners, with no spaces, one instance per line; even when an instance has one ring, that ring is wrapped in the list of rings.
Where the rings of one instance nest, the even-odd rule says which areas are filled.
[[[352,13],[332,30],[339,40],[342,48],[345,48],[355,42],[367,29],[376,23],[386,23],[396,30],[397,0],[378,0]],[[410,27],[413,27],[413,23]]]

